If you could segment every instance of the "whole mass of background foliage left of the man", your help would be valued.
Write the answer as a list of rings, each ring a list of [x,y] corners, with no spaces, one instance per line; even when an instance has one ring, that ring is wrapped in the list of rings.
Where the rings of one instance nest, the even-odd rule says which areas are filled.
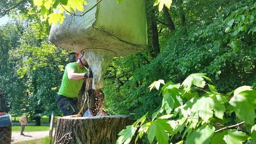
[[[12,99],[10,113],[37,120],[52,111],[59,115],[55,97],[68,52],[49,43],[46,23],[18,21],[2,32],[0,86]]]

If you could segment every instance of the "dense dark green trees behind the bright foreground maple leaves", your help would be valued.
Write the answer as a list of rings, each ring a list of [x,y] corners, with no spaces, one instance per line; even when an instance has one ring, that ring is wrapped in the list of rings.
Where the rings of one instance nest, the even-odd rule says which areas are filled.
[[[108,76],[122,71],[122,66],[132,67],[125,64],[136,63],[129,61],[135,55],[120,58],[121,61],[127,59],[129,62],[120,63],[122,66],[116,65],[113,70],[109,69],[106,74],[108,83],[103,89],[106,95],[106,108],[119,111],[112,109],[118,108],[123,114],[133,114],[135,118],[142,115],[141,111],[148,111],[151,115],[156,107],[160,107],[161,99],[157,96],[157,91],[149,93],[147,87],[158,79],[181,83],[191,73],[206,73],[223,93],[242,85],[252,85],[256,81],[253,48],[255,26],[251,16],[255,7],[252,1],[246,3],[214,1],[211,4],[200,2],[196,3],[196,6],[190,1],[182,5],[173,2],[172,6],[176,9],[171,7],[170,15],[173,15],[176,30],[170,33],[166,25],[158,23],[161,30],[159,33],[161,52],[157,58],[142,53],[146,54],[144,56],[150,63],[135,64],[140,67],[131,70],[134,71],[131,80],[122,83],[121,86]],[[211,7],[208,7],[209,5]],[[184,10],[185,25],[181,22],[178,6],[182,6]],[[160,12],[158,17],[160,21],[164,21],[162,13]],[[239,35],[239,42],[232,42],[234,34]],[[151,39],[148,47],[153,47],[150,41]],[[234,43],[239,43],[238,50],[233,49]],[[140,59],[144,62],[143,57]],[[115,64],[118,63],[115,61]],[[140,83],[139,87],[136,87],[136,82]],[[114,89],[116,92],[113,92]],[[126,110],[121,108],[122,106],[125,106]],[[133,109],[129,109],[130,107]]]

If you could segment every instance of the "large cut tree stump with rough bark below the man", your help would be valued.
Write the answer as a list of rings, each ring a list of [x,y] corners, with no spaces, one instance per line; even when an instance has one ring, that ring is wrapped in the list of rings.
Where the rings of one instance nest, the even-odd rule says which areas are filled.
[[[57,118],[54,143],[116,143],[117,134],[134,122],[127,115],[63,116]]]

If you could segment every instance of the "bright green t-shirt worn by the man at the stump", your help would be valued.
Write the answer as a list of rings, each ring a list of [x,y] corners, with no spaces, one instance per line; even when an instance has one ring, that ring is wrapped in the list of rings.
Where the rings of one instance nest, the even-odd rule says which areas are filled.
[[[69,80],[68,71],[70,69],[75,70],[76,73],[78,73],[78,74],[86,73],[86,72],[88,72],[88,70],[86,68],[81,69],[78,66],[77,62],[69,63],[69,64],[67,64],[67,66],[65,68],[58,94],[64,95],[69,98],[75,98],[78,96],[78,93],[82,87],[84,79],[78,80],[78,81]]]

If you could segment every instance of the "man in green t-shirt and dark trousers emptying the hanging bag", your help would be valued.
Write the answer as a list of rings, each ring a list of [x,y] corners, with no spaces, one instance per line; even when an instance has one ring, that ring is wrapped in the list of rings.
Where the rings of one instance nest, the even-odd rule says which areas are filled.
[[[92,78],[92,71],[83,54],[77,54],[78,60],[67,64],[56,103],[63,116],[78,114],[77,96],[84,79]],[[88,69],[90,69],[88,71]]]

